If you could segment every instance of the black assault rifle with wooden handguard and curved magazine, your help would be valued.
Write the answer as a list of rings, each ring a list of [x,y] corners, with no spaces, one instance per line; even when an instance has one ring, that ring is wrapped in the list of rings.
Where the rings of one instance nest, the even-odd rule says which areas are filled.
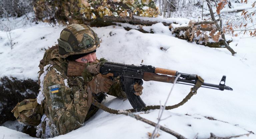
[[[174,83],[175,78],[180,74],[176,83],[195,85],[198,78],[195,74],[180,73],[176,70],[168,70],[162,68],[155,68],[153,66],[141,65],[127,65],[121,63],[106,62],[100,67],[100,73],[107,75],[109,77],[120,77],[123,89],[126,96],[131,103],[132,107],[141,111],[146,104],[142,101],[140,96],[133,93],[133,88],[131,87],[138,79],[143,79],[145,81],[161,81]],[[160,74],[157,74],[160,73]],[[163,75],[165,74],[165,75]],[[168,76],[171,75],[171,76]],[[218,90],[233,90],[231,87],[225,85],[226,76],[224,75],[219,84],[203,83],[201,87],[218,89]]]

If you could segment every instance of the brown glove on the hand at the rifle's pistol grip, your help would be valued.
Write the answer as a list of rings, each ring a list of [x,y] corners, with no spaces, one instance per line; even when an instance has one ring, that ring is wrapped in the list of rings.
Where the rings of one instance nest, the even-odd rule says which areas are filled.
[[[97,74],[87,85],[88,92],[98,94],[100,92],[108,92],[111,85],[115,82],[111,79]]]

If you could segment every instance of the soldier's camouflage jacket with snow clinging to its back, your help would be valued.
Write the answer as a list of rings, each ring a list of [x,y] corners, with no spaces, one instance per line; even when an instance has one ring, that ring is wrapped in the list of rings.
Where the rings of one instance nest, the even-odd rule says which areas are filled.
[[[68,61],[59,57],[56,48],[47,50],[39,65],[41,88],[38,102],[42,100],[45,113],[37,128],[37,136],[41,138],[66,134],[79,128],[88,116],[91,106],[91,101],[88,99],[92,96],[86,91],[90,80],[79,76],[68,77]],[[113,86],[118,87],[111,86],[108,94],[122,97],[120,84]],[[43,99],[42,96],[45,98]]]

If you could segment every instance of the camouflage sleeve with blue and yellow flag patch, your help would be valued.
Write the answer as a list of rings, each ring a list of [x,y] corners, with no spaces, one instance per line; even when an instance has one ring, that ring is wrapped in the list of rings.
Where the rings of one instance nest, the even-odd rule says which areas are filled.
[[[90,105],[87,92],[73,93],[60,72],[51,69],[44,78],[44,95],[50,121],[54,122],[60,135],[79,128],[84,123]]]

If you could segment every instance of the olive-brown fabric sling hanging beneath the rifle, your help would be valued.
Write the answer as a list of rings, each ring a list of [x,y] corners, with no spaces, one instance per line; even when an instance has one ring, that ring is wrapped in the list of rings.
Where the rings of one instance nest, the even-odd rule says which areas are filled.
[[[200,76],[197,75],[197,81],[196,84],[190,89],[189,94],[178,104],[172,105],[172,106],[166,106],[165,109],[166,110],[170,110],[170,109],[174,109],[177,108],[179,106],[182,106],[183,104],[185,104],[194,94],[197,93],[197,89],[200,88],[202,86],[202,84],[204,83],[204,79],[201,78]],[[97,100],[95,100],[94,98],[92,98],[92,104],[95,105],[96,107],[108,112],[108,113],[112,113],[112,114],[120,114],[118,113],[119,110],[115,110],[115,109],[111,109],[106,107],[105,105],[99,103]],[[142,111],[147,111],[147,110],[153,110],[153,109],[160,109],[160,105],[153,105],[153,106],[146,106],[145,108],[142,109]],[[135,109],[127,109],[126,111],[130,111],[130,112],[138,112]]]

